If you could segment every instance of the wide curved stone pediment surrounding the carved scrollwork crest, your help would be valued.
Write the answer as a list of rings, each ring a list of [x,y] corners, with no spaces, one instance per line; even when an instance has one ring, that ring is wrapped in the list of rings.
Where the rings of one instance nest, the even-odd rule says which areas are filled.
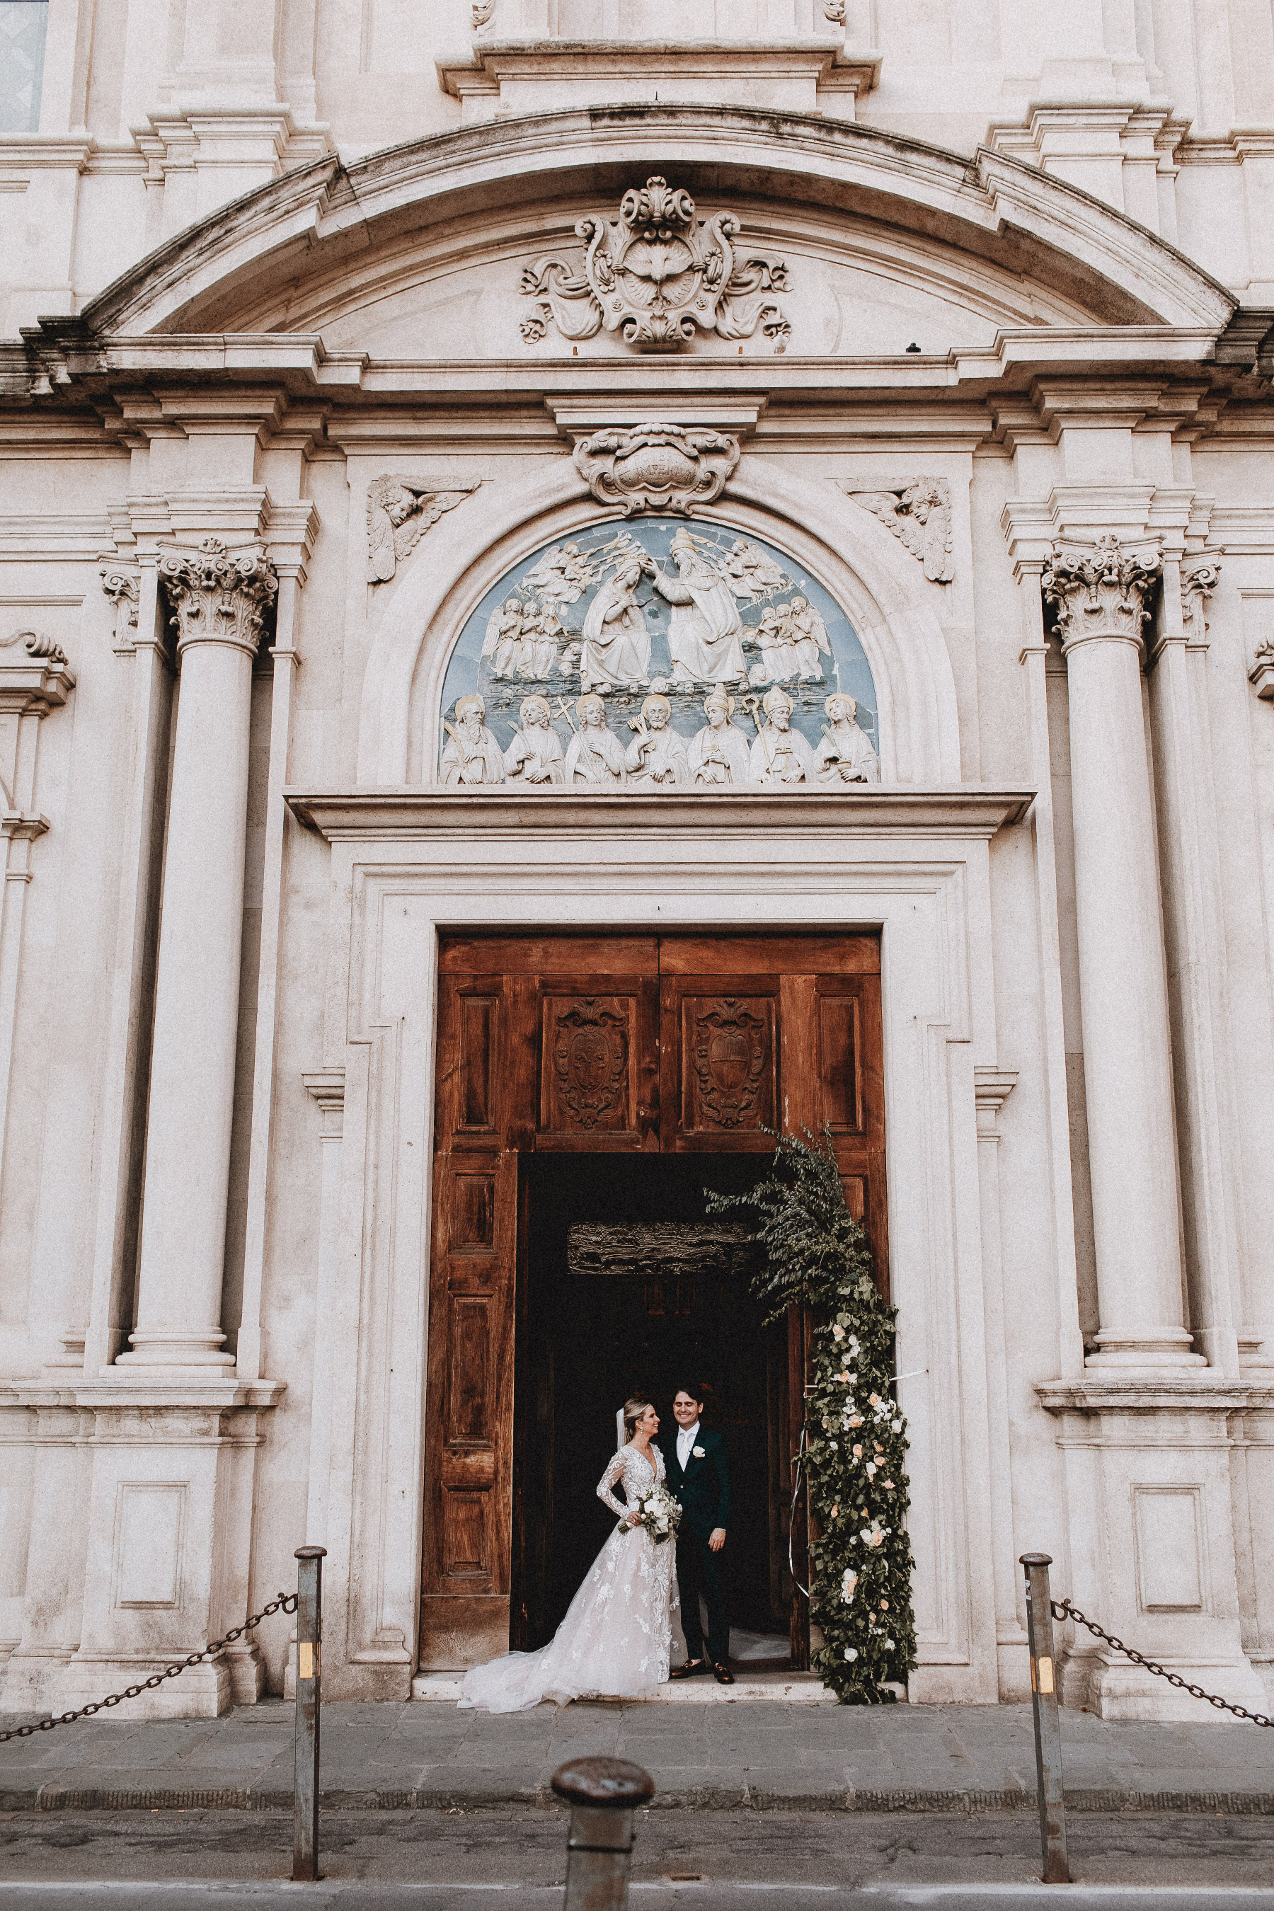
[[[82,317],[99,336],[317,333],[329,350],[374,355],[535,352],[518,336],[521,271],[579,252],[575,220],[613,218],[649,174],[703,212],[728,206],[749,239],[798,262],[789,348],[800,355],[947,352],[1014,327],[1219,333],[1234,311],[1154,233],[1003,155],[965,159],[812,115],[634,105],[319,161],[181,233]],[[562,340],[544,350],[560,355]],[[613,334],[579,348],[615,350]]]

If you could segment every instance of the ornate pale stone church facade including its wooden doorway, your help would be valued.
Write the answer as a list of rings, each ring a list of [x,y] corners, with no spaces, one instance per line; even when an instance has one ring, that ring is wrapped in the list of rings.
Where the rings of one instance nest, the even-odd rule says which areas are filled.
[[[327,1693],[455,1701],[686,1368],[814,1678],[703,1194],[789,1127],[905,1697],[1026,1697],[1043,1550],[1270,1710],[1272,153],[1264,0],[0,0],[0,1708],[302,1544]]]

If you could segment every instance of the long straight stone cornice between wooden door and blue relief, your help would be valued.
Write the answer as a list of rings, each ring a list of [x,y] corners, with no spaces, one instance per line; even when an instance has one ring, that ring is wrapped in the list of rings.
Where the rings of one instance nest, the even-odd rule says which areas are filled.
[[[791,835],[816,829],[848,837],[993,837],[1022,822],[1035,791],[965,784],[917,789],[903,784],[861,791],[739,789],[732,795],[510,795],[500,789],[285,789],[308,829],[336,841],[458,837],[619,835]]]

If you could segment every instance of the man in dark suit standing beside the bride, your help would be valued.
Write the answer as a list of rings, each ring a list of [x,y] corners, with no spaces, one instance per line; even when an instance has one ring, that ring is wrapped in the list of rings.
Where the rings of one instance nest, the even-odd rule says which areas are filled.
[[[701,1426],[703,1387],[678,1387],[672,1401],[676,1447],[669,1454],[669,1491],[682,1502],[676,1535],[676,1588],[682,1596],[686,1664],[672,1678],[712,1672],[718,1686],[733,1686],[730,1670],[730,1621],[720,1582],[720,1554],[730,1523],[730,1468],[726,1441]],[[709,1653],[703,1657],[699,1594],[709,1609]]]

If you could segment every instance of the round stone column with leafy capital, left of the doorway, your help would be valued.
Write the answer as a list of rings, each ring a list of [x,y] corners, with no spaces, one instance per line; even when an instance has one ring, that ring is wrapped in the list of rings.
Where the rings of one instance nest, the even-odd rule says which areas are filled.
[[[147,1366],[225,1368],[222,1263],[235,1095],[252,659],[277,589],[264,550],[160,562],[181,673],[168,805],[141,1210]]]

